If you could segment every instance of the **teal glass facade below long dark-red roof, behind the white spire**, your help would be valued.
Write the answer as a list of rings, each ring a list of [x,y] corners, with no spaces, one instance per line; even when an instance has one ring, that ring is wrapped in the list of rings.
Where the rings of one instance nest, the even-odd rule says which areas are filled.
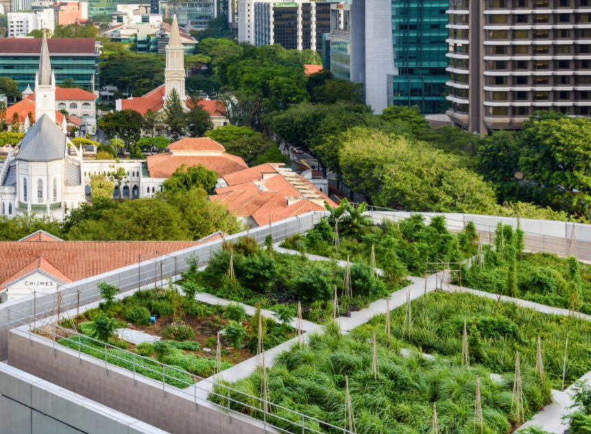
[[[99,90],[98,56],[50,56],[51,68],[60,86],[66,78],[74,78],[75,84],[88,91]],[[39,69],[39,55],[0,56],[0,77],[10,77],[24,91],[27,85],[35,88],[35,74]]]

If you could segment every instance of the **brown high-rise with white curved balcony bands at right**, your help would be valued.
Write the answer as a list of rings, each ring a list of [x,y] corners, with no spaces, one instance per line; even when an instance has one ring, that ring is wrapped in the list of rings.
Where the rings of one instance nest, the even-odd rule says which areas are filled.
[[[448,71],[455,125],[485,134],[535,110],[591,116],[590,0],[451,0]]]

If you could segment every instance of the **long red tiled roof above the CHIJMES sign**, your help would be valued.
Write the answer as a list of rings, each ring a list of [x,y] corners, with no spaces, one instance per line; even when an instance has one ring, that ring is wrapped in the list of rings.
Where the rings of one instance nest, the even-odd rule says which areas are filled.
[[[0,267],[0,289],[21,274],[25,276],[38,268],[64,282],[71,282],[135,264],[138,255],[156,250],[159,255],[169,254],[202,243],[203,241],[2,241],[0,257],[4,259]]]

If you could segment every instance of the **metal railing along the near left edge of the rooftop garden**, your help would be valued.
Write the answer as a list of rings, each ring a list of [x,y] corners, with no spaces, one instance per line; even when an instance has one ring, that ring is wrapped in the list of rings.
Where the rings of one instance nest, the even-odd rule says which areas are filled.
[[[191,374],[191,372],[179,369],[178,367],[160,363],[156,359],[143,357],[134,352],[112,346],[104,341],[99,341],[92,337],[77,333],[73,329],[58,326],[58,324],[54,324],[51,320],[35,320],[34,317],[24,315],[21,312],[14,312],[11,309],[8,309],[7,313],[9,339],[12,339],[11,334],[14,333],[14,329],[23,332],[22,335],[26,339],[26,329],[28,328],[29,344],[33,344],[33,335],[35,335],[36,339],[51,341],[54,357],[56,357],[58,351],[56,348],[56,342],[58,343],[59,348],[64,349],[64,352],[67,352],[67,349],[76,351],[75,348],[62,345],[58,342],[59,339],[69,339],[74,346],[77,344],[78,363],[82,363],[82,354],[84,354],[87,357],[93,357],[93,359],[104,363],[106,375],[108,375],[110,366],[116,366],[131,371],[134,386],[137,384],[136,376],[145,376],[146,378],[162,385],[162,396],[167,396],[167,388],[173,388],[175,391],[180,392],[185,399],[192,400],[195,409],[198,409],[198,401],[207,402],[209,405],[216,405],[219,409],[227,411],[228,418],[234,413],[258,422],[263,422],[265,431],[267,426],[269,426],[278,431],[282,431],[283,433],[325,434],[326,431],[318,431],[313,428],[313,426],[318,426],[321,429],[328,429],[330,432],[336,431],[337,433],[342,434],[354,434],[352,431],[349,431],[344,427],[329,424],[328,422],[318,420],[309,415],[277,405],[272,401],[264,400],[258,396],[252,396],[243,391],[233,389],[223,383],[210,381],[208,378]],[[19,320],[14,320],[15,314],[18,314]],[[43,335],[40,335],[37,332],[43,333]],[[49,335],[51,339],[46,337],[47,335]],[[74,339],[71,339],[72,337],[74,337]],[[88,341],[91,341],[92,345],[85,343]],[[89,352],[92,352],[93,354],[89,354]],[[119,357],[117,356],[117,352],[123,352],[127,357]],[[100,354],[99,357],[97,357],[97,353]],[[121,364],[113,363],[114,361],[119,361]],[[149,372],[149,375],[144,375],[141,372]],[[218,377],[221,377],[221,375],[218,374]],[[182,378],[191,378],[191,382],[184,381]],[[211,389],[207,390],[203,387],[197,387],[198,384],[204,383],[210,386]],[[174,384],[185,386],[176,387]],[[200,396],[198,393],[199,391],[205,392],[208,397],[204,398],[203,396]],[[218,402],[208,399],[213,396],[218,398]],[[243,400],[240,398],[243,398]],[[249,404],[249,402],[252,403],[253,400],[255,400],[254,405]],[[224,404],[222,405],[219,402],[224,402]],[[278,411],[280,411],[282,415],[278,415]],[[278,424],[281,424],[286,428],[281,428]]]

